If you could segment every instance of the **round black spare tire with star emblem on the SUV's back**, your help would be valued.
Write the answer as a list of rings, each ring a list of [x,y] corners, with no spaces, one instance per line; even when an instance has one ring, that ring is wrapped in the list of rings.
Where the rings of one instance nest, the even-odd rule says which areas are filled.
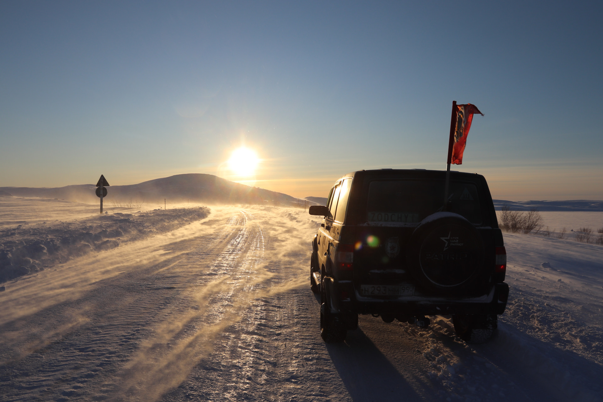
[[[406,256],[419,283],[448,294],[465,291],[484,273],[481,236],[467,219],[452,212],[423,219],[412,233]]]

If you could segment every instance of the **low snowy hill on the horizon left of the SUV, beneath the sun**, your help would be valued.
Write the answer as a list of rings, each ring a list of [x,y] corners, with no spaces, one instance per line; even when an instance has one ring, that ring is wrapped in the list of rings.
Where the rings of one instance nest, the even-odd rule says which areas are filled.
[[[80,203],[98,203],[94,184],[77,184],[55,188],[36,187],[0,187],[0,191],[17,197],[58,198],[78,201]],[[104,199],[109,207],[111,201],[120,203],[130,200],[135,203],[207,203],[207,204],[257,204],[267,206],[294,207],[305,203],[303,199],[283,193],[245,186],[209,174],[181,174],[157,178],[143,183],[127,186],[107,187]],[[312,205],[314,203],[309,201]]]

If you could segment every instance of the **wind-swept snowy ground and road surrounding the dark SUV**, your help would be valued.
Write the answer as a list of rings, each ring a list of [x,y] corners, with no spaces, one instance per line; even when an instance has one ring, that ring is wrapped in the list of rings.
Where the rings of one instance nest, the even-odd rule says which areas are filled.
[[[303,210],[99,218],[2,201],[0,233],[23,247],[66,225],[80,245],[122,233],[0,284],[3,401],[603,401],[601,245],[505,234],[510,303],[488,344],[465,344],[446,316],[426,329],[361,316],[325,345],[308,282],[319,222]],[[551,230],[603,227],[603,212],[542,215]]]

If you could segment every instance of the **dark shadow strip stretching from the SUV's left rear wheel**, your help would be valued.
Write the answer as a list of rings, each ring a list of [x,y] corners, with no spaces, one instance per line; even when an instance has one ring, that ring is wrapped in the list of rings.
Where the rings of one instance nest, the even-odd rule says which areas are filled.
[[[327,350],[353,401],[424,400],[360,328]]]

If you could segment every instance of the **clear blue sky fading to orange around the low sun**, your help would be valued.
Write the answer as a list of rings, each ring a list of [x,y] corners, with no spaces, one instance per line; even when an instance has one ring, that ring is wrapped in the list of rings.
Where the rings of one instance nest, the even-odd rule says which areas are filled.
[[[601,2],[0,2],[0,186],[464,163],[495,198],[603,199]]]

